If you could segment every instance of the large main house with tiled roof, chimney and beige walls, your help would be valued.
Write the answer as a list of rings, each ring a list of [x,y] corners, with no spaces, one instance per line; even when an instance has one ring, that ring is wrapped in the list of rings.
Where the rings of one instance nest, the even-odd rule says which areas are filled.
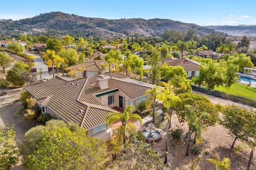
[[[106,124],[106,115],[114,109],[138,106],[146,100],[143,85],[115,78],[116,73],[94,75],[66,81],[58,76],[41,83],[25,86],[41,113],[49,113],[66,123],[73,121],[86,129],[91,137],[109,140],[112,125]]]

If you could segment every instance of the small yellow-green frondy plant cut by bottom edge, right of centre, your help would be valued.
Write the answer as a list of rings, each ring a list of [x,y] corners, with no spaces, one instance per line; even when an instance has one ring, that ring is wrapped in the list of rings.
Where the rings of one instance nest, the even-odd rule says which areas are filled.
[[[230,170],[230,159],[229,158],[220,158],[218,154],[213,156],[213,159],[206,159],[211,164],[214,164],[216,170]]]

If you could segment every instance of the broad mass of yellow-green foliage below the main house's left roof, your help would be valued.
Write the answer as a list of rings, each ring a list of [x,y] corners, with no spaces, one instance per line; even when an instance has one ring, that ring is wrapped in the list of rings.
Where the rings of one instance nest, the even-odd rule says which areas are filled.
[[[50,120],[45,126],[31,128],[24,137],[19,148],[28,169],[95,170],[105,166],[105,142],[88,137],[84,128],[72,131],[64,121]]]

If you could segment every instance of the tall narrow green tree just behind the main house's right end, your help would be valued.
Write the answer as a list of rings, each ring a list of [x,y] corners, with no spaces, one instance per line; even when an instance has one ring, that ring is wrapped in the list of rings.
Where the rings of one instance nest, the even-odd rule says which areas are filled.
[[[152,54],[150,54],[148,58],[148,63],[150,63],[151,68],[150,72],[152,73],[152,84],[154,84],[156,81],[160,79],[160,61],[161,61],[160,53],[159,51],[154,51]]]

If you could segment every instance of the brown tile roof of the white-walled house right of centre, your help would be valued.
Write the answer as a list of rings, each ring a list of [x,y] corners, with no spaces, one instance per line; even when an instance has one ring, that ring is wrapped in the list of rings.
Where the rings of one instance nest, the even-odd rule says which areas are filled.
[[[181,67],[183,67],[183,69],[185,71],[199,70],[199,66],[200,66],[199,62],[193,61],[193,60],[190,60],[190,59],[170,60],[170,61],[165,62],[165,63],[167,65],[170,65],[170,66],[178,66],[178,65],[180,65]]]

